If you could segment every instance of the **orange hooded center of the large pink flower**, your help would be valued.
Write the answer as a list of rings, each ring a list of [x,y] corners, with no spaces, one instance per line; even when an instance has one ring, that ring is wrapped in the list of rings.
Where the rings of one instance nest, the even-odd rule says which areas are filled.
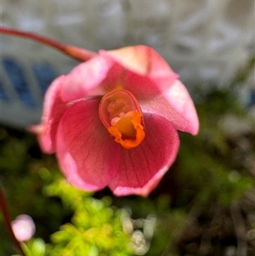
[[[99,104],[99,117],[123,148],[132,149],[144,140],[142,111],[138,101],[127,90],[116,89],[105,94]]]

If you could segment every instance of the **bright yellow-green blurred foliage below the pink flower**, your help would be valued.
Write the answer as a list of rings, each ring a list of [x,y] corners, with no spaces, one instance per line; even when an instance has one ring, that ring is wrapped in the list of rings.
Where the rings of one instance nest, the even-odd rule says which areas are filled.
[[[132,255],[129,236],[122,228],[121,212],[110,206],[111,200],[94,199],[89,193],[56,179],[45,189],[48,196],[59,196],[74,214],[71,223],[51,236],[48,255]]]

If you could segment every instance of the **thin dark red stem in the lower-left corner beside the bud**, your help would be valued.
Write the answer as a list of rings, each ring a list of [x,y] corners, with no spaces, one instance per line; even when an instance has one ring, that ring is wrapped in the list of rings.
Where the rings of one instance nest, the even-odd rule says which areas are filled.
[[[14,242],[14,245],[20,250],[20,254],[22,256],[26,256],[26,254],[24,253],[24,251],[20,245],[20,242],[16,239],[16,237],[14,235],[14,231],[11,226],[11,219],[10,219],[9,213],[8,213],[7,203],[5,202],[5,199],[3,196],[3,191],[1,189],[1,187],[0,187],[0,209],[2,210],[3,219],[5,220],[5,225],[7,226],[8,232]]]

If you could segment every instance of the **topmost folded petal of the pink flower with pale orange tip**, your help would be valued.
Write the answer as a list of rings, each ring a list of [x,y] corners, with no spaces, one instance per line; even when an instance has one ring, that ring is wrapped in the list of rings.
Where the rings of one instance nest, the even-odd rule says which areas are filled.
[[[99,51],[105,58],[111,58],[123,66],[123,88],[130,91],[137,100],[153,98],[161,89],[169,88],[178,78],[167,62],[153,48],[144,45],[125,47],[112,51]],[[154,82],[157,78],[161,82]]]

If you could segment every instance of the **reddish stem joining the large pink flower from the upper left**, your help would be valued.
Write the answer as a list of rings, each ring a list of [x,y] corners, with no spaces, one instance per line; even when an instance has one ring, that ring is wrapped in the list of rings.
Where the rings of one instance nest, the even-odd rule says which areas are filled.
[[[0,26],[0,34],[1,33],[9,36],[24,37],[33,41],[37,41],[38,43],[46,44],[80,61],[87,61],[96,55],[96,53],[88,51],[87,49],[78,48],[76,46],[68,45],[65,43],[60,43],[59,41],[50,39],[48,37],[42,37],[31,32],[18,31],[12,28]]]

